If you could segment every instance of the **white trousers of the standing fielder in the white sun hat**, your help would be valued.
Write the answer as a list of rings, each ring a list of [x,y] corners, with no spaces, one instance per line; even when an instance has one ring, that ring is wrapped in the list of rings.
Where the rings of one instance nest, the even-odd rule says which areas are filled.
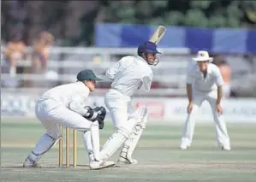
[[[211,105],[211,111],[213,114],[214,122],[216,123],[217,142],[222,146],[229,146],[229,135],[227,132],[227,126],[222,114],[218,114],[216,111],[217,91],[211,91],[209,93],[194,93],[193,94],[193,109],[185,122],[182,135],[182,144],[190,146],[193,139],[193,132],[195,126],[195,115],[199,110],[199,107],[204,101],[207,101]]]

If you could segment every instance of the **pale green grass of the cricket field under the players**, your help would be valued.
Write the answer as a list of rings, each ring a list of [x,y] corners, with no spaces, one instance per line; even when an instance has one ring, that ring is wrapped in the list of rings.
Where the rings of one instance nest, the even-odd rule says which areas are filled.
[[[27,154],[45,132],[44,128],[37,120],[2,119],[1,181],[255,182],[256,125],[229,124],[228,129],[231,151],[217,148],[213,124],[197,124],[192,147],[182,151],[178,149],[182,124],[149,124],[134,152],[134,157],[140,162],[138,165],[117,165],[110,169],[90,171],[86,166],[88,160],[80,133],[78,167],[57,167],[57,146],[42,157],[41,168],[21,167]],[[101,131],[101,144],[104,144],[111,132],[112,126],[109,122]],[[71,137],[70,133],[70,142]],[[118,154],[119,150],[111,160],[116,161]],[[71,156],[70,162],[72,163]]]

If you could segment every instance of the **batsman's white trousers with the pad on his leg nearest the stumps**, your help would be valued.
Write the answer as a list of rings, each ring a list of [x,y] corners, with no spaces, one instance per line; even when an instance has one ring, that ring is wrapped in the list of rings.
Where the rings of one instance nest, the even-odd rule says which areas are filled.
[[[137,123],[138,112],[134,109],[131,97],[124,96],[120,91],[110,89],[104,97],[104,103],[110,110],[114,132],[100,151],[102,159],[106,160],[129,138]]]

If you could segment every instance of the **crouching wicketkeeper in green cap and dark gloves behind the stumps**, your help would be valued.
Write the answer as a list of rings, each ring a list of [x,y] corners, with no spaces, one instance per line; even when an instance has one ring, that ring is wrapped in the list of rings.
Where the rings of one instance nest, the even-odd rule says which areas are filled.
[[[96,81],[101,79],[92,70],[83,70],[77,74],[77,80],[75,83],[54,87],[39,97],[35,114],[45,126],[46,132],[27,156],[23,167],[37,167],[40,157],[57,144],[62,137],[60,124],[83,133],[91,169],[115,165],[115,162],[98,159],[98,129],[104,126],[105,109],[91,109],[85,105],[90,91],[95,89]]]

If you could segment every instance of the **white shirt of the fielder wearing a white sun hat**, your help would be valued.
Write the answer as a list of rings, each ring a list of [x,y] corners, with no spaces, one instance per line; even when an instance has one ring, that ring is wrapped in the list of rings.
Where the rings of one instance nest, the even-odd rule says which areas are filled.
[[[197,64],[191,64],[188,67],[187,83],[193,85],[193,91],[209,92],[217,90],[217,86],[223,85],[223,77],[216,65],[209,63],[207,65],[207,74],[199,70]]]

